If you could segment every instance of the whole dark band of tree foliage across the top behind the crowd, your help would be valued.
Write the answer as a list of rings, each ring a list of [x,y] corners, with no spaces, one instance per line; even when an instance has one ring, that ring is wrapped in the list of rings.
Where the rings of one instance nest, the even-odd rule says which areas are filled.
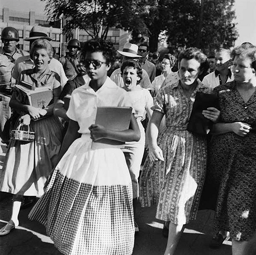
[[[149,38],[150,51],[166,32],[170,51],[199,47],[205,53],[231,47],[237,38],[235,0],[41,0],[46,14],[56,21],[66,18],[63,33],[75,28],[92,38],[106,39],[109,28],[132,31],[133,42]]]

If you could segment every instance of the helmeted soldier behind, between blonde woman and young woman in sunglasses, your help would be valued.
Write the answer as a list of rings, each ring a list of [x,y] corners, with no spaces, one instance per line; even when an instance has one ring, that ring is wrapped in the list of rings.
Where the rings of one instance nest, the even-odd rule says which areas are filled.
[[[79,70],[77,69],[77,65],[79,64],[77,54],[81,49],[80,42],[77,39],[71,39],[69,43],[67,43],[67,49],[69,53],[60,58],[60,63],[63,65],[67,79],[71,81],[79,74]]]

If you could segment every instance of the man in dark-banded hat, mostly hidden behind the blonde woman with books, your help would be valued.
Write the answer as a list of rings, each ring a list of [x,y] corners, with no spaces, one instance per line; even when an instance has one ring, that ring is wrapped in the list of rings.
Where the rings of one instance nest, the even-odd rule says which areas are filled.
[[[32,43],[36,41],[37,39],[44,38],[47,39],[48,41],[52,41],[46,33],[42,32],[43,27],[40,26],[34,26],[29,32],[29,38],[25,38],[24,41],[29,42],[29,47],[31,47]],[[34,67],[33,61],[30,59],[30,56],[24,56],[19,58],[14,65],[13,72],[12,72],[12,77],[17,80],[23,70],[26,69],[32,69]],[[62,67],[62,64],[57,60],[52,58],[49,63],[49,69],[52,71],[57,72],[57,74],[60,76],[60,84],[61,87],[66,84],[67,78],[64,72],[64,69]]]

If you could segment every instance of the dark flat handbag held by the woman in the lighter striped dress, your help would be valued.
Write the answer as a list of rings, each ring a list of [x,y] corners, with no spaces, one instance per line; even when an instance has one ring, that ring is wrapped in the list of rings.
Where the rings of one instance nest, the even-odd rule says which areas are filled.
[[[202,115],[202,111],[208,107],[218,109],[218,97],[212,94],[197,92],[189,124],[187,125],[187,131],[202,136],[206,136],[210,132],[213,122]]]

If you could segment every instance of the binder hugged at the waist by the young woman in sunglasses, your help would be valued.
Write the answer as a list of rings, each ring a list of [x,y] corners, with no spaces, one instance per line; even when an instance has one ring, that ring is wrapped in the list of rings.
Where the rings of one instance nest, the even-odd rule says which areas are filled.
[[[106,129],[123,131],[129,129],[131,107],[98,107],[95,124],[103,125]],[[112,139],[99,139],[92,142],[92,149],[123,148],[125,142]]]

